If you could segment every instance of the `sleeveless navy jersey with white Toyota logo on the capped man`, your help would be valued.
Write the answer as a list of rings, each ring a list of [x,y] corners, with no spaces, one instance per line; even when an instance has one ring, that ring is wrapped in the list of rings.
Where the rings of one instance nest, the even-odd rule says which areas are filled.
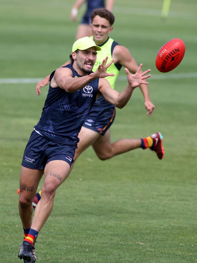
[[[73,78],[81,77],[72,66],[69,64],[63,68],[71,69]],[[76,144],[79,141],[78,133],[85,117],[96,101],[99,79],[92,80],[84,88],[73,93],[67,93],[59,87],[51,87],[54,74],[55,71],[51,73],[48,95],[42,109],[42,115],[34,128],[48,140]]]

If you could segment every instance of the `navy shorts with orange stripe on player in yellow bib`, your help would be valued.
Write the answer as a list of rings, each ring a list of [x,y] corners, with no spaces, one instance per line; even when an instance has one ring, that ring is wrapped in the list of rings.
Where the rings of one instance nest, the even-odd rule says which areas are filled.
[[[99,100],[101,101],[101,100]],[[85,118],[83,127],[94,130],[101,135],[105,135],[115,119],[115,106],[107,103],[95,102],[91,111]]]

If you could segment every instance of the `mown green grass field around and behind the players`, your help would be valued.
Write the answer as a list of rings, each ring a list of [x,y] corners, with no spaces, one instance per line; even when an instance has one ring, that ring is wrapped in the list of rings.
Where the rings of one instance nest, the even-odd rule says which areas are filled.
[[[197,262],[197,2],[172,0],[166,21],[160,19],[162,2],[115,2],[111,37],[128,47],[144,69],[152,69],[149,90],[156,108],[147,117],[136,89],[128,105],[117,110],[111,137],[115,141],[160,131],[165,157],[160,161],[149,150],[137,149],[101,161],[87,149],[57,191],[36,243],[36,262]],[[42,78],[68,60],[77,27],[69,19],[72,3],[1,4],[0,262],[22,262],[17,258],[23,236],[20,166],[48,90],[43,88],[38,97],[36,81],[10,82]],[[185,42],[185,57],[172,72],[160,73],[156,54],[172,38]],[[116,89],[125,86],[122,69]]]

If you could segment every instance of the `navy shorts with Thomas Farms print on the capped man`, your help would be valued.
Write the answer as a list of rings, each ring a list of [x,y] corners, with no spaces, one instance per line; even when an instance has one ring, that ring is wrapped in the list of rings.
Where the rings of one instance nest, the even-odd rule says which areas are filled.
[[[41,170],[52,160],[63,160],[71,166],[76,148],[77,145],[52,142],[33,131],[25,147],[22,166]]]

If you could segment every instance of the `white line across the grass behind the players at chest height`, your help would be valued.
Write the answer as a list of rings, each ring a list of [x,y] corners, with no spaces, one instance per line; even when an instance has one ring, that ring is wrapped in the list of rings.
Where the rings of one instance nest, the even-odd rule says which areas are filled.
[[[163,74],[153,74],[150,80],[154,79],[189,79],[197,78],[197,72],[191,73],[163,73]],[[118,76],[119,80],[126,80],[126,76]],[[42,78],[27,78],[27,79],[0,79],[0,84],[22,84],[22,83],[38,83]]]

